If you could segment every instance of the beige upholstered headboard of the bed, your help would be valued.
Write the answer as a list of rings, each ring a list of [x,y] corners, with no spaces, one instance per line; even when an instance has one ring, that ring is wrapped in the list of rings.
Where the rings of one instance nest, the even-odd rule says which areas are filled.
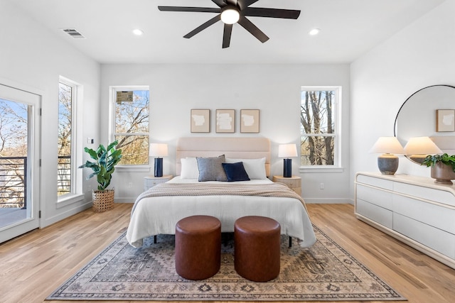
[[[270,175],[270,141],[267,138],[205,137],[179,138],[176,149],[176,174],[181,172],[181,158],[217,157],[258,159],[265,158],[265,172]]]

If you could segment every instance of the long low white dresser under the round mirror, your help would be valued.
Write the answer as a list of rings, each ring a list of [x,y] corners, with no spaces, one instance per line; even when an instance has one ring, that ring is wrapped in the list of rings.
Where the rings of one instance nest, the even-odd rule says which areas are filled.
[[[455,268],[455,185],[409,175],[355,175],[355,215]]]

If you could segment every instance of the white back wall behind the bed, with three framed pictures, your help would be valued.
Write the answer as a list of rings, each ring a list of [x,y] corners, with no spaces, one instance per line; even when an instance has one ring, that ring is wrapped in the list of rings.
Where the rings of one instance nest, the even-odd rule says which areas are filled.
[[[343,87],[343,172],[304,173],[307,202],[348,202],[349,197],[349,66],[348,65],[102,65],[102,140],[108,141],[109,86],[149,85],[151,142],[169,144],[164,174],[175,175],[176,140],[183,136],[261,136],[272,142],[272,174],[282,175],[279,143],[299,143],[301,86]],[[191,133],[191,109],[210,109],[210,133]],[[215,110],[235,109],[235,133],[215,133]],[[259,109],[259,133],[240,133],[240,109]],[[151,161],[152,162],[152,161]],[[299,160],[293,161],[299,175]],[[116,171],[112,184],[117,201],[134,202],[150,172]],[[132,182],[133,187],[127,184]],[[325,189],[319,189],[324,183]]]

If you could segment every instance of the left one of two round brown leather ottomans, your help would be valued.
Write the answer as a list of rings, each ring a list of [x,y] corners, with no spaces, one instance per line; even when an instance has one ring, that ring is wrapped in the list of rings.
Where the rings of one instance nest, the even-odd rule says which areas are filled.
[[[176,272],[188,280],[215,275],[221,263],[221,222],[213,216],[188,216],[176,224]]]

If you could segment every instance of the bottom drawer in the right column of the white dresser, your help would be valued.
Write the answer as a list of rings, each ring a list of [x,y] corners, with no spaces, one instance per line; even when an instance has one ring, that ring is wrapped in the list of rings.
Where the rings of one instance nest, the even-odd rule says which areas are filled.
[[[400,214],[393,214],[393,229],[449,258],[455,258],[455,235],[452,233]]]

